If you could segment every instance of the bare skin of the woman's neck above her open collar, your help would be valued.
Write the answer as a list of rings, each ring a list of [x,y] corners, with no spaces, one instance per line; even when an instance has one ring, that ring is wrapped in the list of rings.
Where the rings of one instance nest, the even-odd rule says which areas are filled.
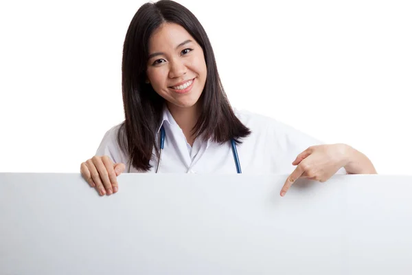
[[[194,136],[192,135],[192,129],[198,121],[200,112],[195,104],[192,107],[182,108],[173,104],[168,104],[168,109],[172,114],[176,123],[181,127],[183,134],[186,137],[190,146],[193,146]]]

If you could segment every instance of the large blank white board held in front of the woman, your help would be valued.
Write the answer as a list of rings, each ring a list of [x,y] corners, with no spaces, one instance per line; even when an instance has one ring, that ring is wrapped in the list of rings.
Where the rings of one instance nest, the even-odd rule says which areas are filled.
[[[0,274],[412,274],[412,177],[0,174]]]

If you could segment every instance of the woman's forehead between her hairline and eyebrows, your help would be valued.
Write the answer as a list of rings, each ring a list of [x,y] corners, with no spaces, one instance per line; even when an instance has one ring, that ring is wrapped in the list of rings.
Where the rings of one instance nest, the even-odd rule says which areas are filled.
[[[174,48],[186,40],[194,41],[194,38],[176,23],[163,23],[149,39],[149,52],[174,50]],[[195,42],[195,41],[194,41]]]

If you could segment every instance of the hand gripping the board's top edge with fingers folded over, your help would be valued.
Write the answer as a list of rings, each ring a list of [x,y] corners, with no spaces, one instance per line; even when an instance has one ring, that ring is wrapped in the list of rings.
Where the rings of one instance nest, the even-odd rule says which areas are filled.
[[[122,174],[126,166],[122,163],[113,164],[111,159],[104,155],[87,159],[80,166],[80,173],[91,187],[95,187],[101,196],[111,195],[119,190],[117,176]]]

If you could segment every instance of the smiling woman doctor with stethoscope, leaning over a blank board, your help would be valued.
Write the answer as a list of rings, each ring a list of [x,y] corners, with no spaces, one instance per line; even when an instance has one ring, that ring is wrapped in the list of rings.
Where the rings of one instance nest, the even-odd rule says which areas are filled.
[[[201,23],[170,0],[137,10],[124,41],[125,120],[104,135],[80,172],[100,195],[130,173],[277,173],[324,182],[376,173],[346,144],[318,140],[262,115],[232,109]]]

